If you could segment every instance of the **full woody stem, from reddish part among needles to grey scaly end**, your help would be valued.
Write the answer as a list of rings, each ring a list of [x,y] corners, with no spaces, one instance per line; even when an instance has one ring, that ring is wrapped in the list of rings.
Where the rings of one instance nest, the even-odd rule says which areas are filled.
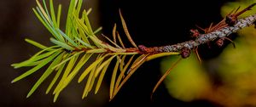
[[[253,5],[256,5],[256,3],[253,3],[251,5],[251,7]],[[248,10],[251,7],[248,7],[244,10]],[[231,16],[232,16],[232,14],[231,14]],[[177,53],[181,53],[183,58],[187,58],[187,57],[189,57],[189,53],[190,53],[191,49],[197,48],[201,44],[205,44],[207,42],[212,42],[216,39],[227,38],[230,36],[230,34],[236,33],[236,31],[239,31],[246,26],[255,24],[256,14],[247,16],[247,17],[239,19],[239,20],[237,20],[236,14],[234,16],[235,16],[234,17],[235,20],[231,19],[232,24],[228,23],[228,20],[230,20],[230,19],[225,19],[226,22],[224,22],[224,21],[220,22],[224,25],[224,27],[209,31],[205,34],[197,34],[195,40],[189,40],[187,42],[180,42],[177,44],[166,45],[166,46],[161,46],[161,47],[147,48],[144,45],[138,45],[137,48],[119,48],[119,49],[123,50],[122,53],[131,53],[131,54],[154,54],[154,53],[177,52]],[[228,17],[228,18],[230,18],[230,17]],[[233,22],[234,22],[234,24],[233,24]],[[108,44],[107,42],[103,42],[103,43]],[[94,48],[94,49],[97,49],[97,48]],[[103,49],[105,51],[100,51],[98,53],[119,53],[119,52],[117,52],[115,50],[111,50],[109,48],[103,48]],[[80,48],[80,49],[76,48],[73,51],[87,52],[87,51],[90,51],[90,48]]]

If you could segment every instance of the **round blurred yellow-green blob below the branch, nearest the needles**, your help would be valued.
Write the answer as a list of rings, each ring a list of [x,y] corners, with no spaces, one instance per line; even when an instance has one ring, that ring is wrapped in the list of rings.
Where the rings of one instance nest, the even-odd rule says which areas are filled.
[[[169,57],[161,62],[163,73],[170,67],[178,57]],[[166,87],[173,97],[183,101],[191,101],[199,98],[201,92],[209,88],[207,74],[201,68],[194,54],[188,59],[182,59],[165,80]]]

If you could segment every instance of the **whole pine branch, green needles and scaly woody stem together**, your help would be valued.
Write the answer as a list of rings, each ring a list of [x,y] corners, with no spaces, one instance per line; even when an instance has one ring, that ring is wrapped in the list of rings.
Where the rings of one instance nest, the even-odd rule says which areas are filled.
[[[38,20],[40,20],[45,28],[52,34],[53,37],[49,40],[54,43],[54,45],[47,47],[38,42],[26,39],[26,42],[40,48],[41,51],[35,53],[30,59],[12,65],[15,68],[33,66],[31,70],[27,70],[24,74],[16,77],[12,82],[18,82],[26,76],[31,76],[34,72],[44,66],[49,65],[26,97],[30,97],[41,83],[48,78],[48,76],[55,74],[52,82],[49,83],[49,87],[46,90],[47,94],[55,85],[52,92],[55,95],[54,102],[63,89],[73,81],[73,78],[77,76],[79,71],[82,70],[85,65],[88,65],[88,67],[82,70],[83,72],[79,76],[78,80],[78,82],[84,82],[86,78],[82,99],[90,93],[94,85],[96,85],[95,93],[98,92],[101,87],[103,77],[108,70],[108,66],[112,62],[115,62],[109,87],[109,99],[111,100],[131,75],[141,65],[143,65],[144,62],[170,55],[181,55],[182,58],[187,58],[189,57],[191,49],[197,48],[207,42],[224,40],[224,38],[228,39],[231,33],[235,33],[246,26],[253,25],[256,20],[256,14],[237,20],[238,15],[249,10],[255,5],[255,3],[253,3],[238,14],[236,14],[236,12],[231,12],[227,15],[227,18],[220,21],[217,25],[210,25],[209,28],[203,30],[205,31],[205,34],[200,34],[199,32],[194,31],[195,33],[193,36],[196,37],[195,40],[162,47],[147,48],[143,45],[137,46],[137,44],[132,40],[125,24],[125,20],[119,10],[120,20],[125,31],[125,36],[133,46],[132,48],[126,48],[126,44],[123,43],[122,37],[119,35],[119,31],[116,31],[116,24],[113,26],[113,40],[106,37],[109,43],[103,42],[96,36],[96,33],[102,28],[100,27],[93,30],[91,27],[90,20],[88,18],[91,9],[88,11],[83,10],[82,15],[79,15],[82,0],[71,0],[67,14],[65,31],[60,29],[61,5],[59,5],[55,16],[55,8],[52,0],[49,0],[49,10],[44,0],[43,5],[38,2],[38,0],[36,1],[38,3],[38,7],[33,8],[33,11],[37,15]],[[218,44],[221,44],[219,42]],[[92,56],[96,56],[96,58]],[[88,62],[90,59],[93,59],[94,61],[91,63]],[[177,63],[175,65],[177,65]],[[171,68],[173,68],[173,66]],[[160,78],[160,81],[157,82],[154,87],[154,91],[159,86],[160,82],[162,82],[169,74],[170,70],[172,69],[169,69],[166,74]],[[58,78],[60,78],[59,82],[57,82]]]

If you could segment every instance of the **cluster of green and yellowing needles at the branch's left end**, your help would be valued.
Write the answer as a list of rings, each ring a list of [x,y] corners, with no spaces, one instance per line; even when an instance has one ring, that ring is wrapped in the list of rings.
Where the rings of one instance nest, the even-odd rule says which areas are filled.
[[[102,30],[102,27],[96,30],[91,27],[88,16],[91,12],[91,8],[89,8],[88,11],[85,9],[82,10],[82,0],[70,1],[65,30],[61,30],[60,28],[61,4],[58,5],[57,12],[55,12],[53,0],[49,0],[49,6],[45,0],[43,0],[43,3],[41,3],[40,0],[36,0],[36,3],[38,6],[32,8],[32,10],[38,17],[38,20],[51,33],[52,37],[49,37],[49,41],[53,43],[53,46],[47,47],[31,39],[25,39],[26,42],[40,50],[30,59],[12,65],[15,69],[20,67],[32,67],[32,69],[16,77],[12,83],[18,82],[26,78],[26,76],[32,76],[34,72],[43,67],[46,68],[43,75],[38,78],[38,81],[35,82],[30,92],[27,93],[26,98],[30,97],[46,79],[52,79],[45,93],[48,94],[50,90],[53,90],[52,93],[54,94],[55,102],[63,89],[73,81],[73,78],[79,74],[79,71],[82,71],[78,82],[83,82],[85,77],[89,75],[85,82],[84,93],[82,95],[82,99],[84,99],[93,89],[93,86],[96,85],[95,93],[99,91],[102,82],[104,82],[103,78],[105,74],[109,72],[108,66],[115,61],[109,91],[110,99],[113,99],[116,93],[119,92],[120,87],[124,85],[135,70],[143,65],[145,61],[167,55],[179,54],[142,54],[138,52],[139,48],[137,48],[136,43],[132,40],[120,11],[120,20],[125,35],[134,48],[125,48],[125,44],[122,42],[119,32],[116,31],[117,25],[113,27],[113,40],[106,37],[108,43],[99,39],[100,37],[97,37],[96,34]],[[95,59],[95,57],[92,56],[97,56],[97,58]],[[91,62],[91,60],[94,61]],[[84,66],[88,67],[85,68]],[[48,78],[50,75],[55,76]]]

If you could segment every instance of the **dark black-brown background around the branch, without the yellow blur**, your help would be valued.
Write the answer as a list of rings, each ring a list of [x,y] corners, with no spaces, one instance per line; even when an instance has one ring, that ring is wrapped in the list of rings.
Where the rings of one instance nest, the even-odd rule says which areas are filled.
[[[89,2],[86,3],[87,1]],[[195,28],[195,25],[207,27],[211,22],[222,20],[219,14],[220,7],[228,2],[227,0],[99,0],[98,3],[87,1],[85,8],[93,7],[91,23],[96,22],[94,26],[102,25],[105,35],[111,36],[113,23],[121,26],[118,13],[120,8],[134,41],[147,47],[188,41],[191,39],[189,29]],[[55,0],[55,4],[57,3],[63,4],[63,11],[67,12],[68,1]],[[32,13],[32,8],[35,6],[35,0],[0,1],[0,106],[135,106],[139,104],[174,107],[217,106],[206,100],[183,102],[173,99],[163,84],[151,100],[151,91],[161,76],[160,59],[142,65],[111,102],[108,102],[108,89],[102,89],[96,95],[91,94],[84,100],[80,99],[84,86],[76,82],[61,93],[55,104],[52,103],[52,95],[44,94],[48,85],[46,83],[39,87],[31,98],[26,99],[26,93],[40,73],[37,73],[38,76],[32,75],[11,84],[16,76],[29,68],[15,70],[10,65],[28,59],[38,51],[38,48],[26,43],[25,38],[51,45],[49,32]],[[62,15],[65,17],[64,13]],[[202,59],[212,59],[221,52],[221,49],[200,48],[199,51]],[[208,53],[204,53],[205,51]],[[109,78],[106,78],[105,88],[109,86]]]

